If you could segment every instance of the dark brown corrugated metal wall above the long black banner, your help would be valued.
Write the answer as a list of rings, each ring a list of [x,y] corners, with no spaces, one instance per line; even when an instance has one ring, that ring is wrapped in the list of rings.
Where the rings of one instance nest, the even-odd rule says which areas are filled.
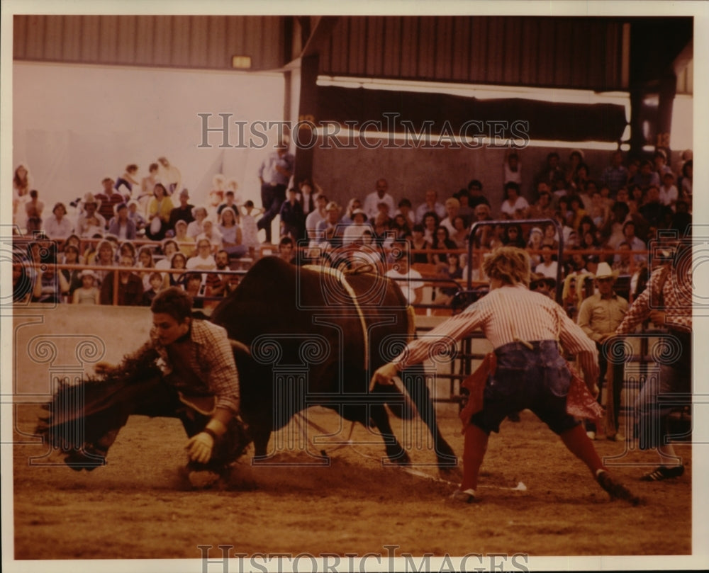
[[[474,84],[627,89],[623,22],[608,18],[342,18],[320,73]]]

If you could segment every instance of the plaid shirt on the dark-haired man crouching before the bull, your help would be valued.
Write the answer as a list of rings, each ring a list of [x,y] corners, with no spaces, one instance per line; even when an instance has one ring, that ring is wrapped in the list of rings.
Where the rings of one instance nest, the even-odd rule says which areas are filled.
[[[216,396],[216,407],[239,412],[239,374],[226,330],[203,320],[193,320],[189,332],[189,351],[181,354],[182,367],[189,372],[173,372],[177,366],[151,332],[152,346],[160,355],[162,373],[173,373],[171,382],[186,394],[208,393]]]

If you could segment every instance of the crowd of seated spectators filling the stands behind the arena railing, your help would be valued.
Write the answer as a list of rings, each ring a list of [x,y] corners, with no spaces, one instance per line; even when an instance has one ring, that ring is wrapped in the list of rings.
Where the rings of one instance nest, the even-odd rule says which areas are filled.
[[[220,297],[238,283],[238,275],[228,272],[235,261],[261,256],[264,243],[259,232],[276,215],[280,239],[272,254],[288,261],[341,268],[381,264],[385,270],[396,263],[400,274],[423,268],[427,276],[461,281],[468,276],[471,225],[496,220],[495,225],[476,227],[474,247],[527,249],[537,279],[549,279],[540,281],[544,288],[559,278],[561,268],[564,305],[573,314],[581,300],[579,277],[592,276],[598,263],[605,262],[637,282],[657,231],[683,230],[691,222],[692,159],[683,159],[674,172],[663,149],[657,149],[652,160],[633,159],[627,164],[618,151],[603,171],[594,173],[581,151],[572,151],[565,164],[552,152],[532,187],[523,189],[520,156],[510,151],[501,207],[493,210],[498,198],[490,200],[480,178],[472,178],[454,193],[428,188],[398,201],[386,178],[379,178],[371,192],[351,198],[343,207],[309,178],[294,181],[291,176],[284,183],[293,165],[284,149],[271,159],[279,174],[277,186],[264,181],[268,169],[259,171],[262,208],[243,201],[238,183],[222,175],[213,179],[208,204],[193,205],[189,191],[181,186],[179,169],[161,157],[144,178],[138,178],[138,166],[131,164],[115,180],[104,178],[97,193],[70,201],[75,217],[69,217],[63,202],[47,213],[30,171],[20,165],[13,177],[13,222],[21,229],[18,244],[26,247],[13,268],[15,299],[140,305],[150,304],[157,291],[174,284],[189,286],[200,297]],[[279,200],[274,193],[278,195],[282,186],[286,192]],[[557,225],[535,220],[554,220]],[[337,257],[330,256],[336,251]],[[404,251],[413,268],[402,271],[395,259]],[[47,261],[77,268],[60,267],[54,273],[26,264]],[[471,261],[474,280],[484,278],[480,261],[479,256]],[[106,269],[82,270],[82,265]],[[112,266],[132,270],[111,270]],[[175,272],[167,272],[171,269]],[[441,286],[432,300],[423,302],[447,304],[452,298],[449,287]]]

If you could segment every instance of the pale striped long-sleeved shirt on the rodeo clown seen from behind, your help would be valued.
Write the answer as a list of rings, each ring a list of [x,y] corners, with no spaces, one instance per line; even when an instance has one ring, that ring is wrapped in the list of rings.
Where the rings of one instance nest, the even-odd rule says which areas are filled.
[[[449,351],[454,341],[476,329],[482,329],[493,348],[515,341],[559,341],[566,351],[576,354],[586,376],[598,375],[596,344],[556,302],[524,285],[491,290],[462,313],[411,341],[393,363],[403,370]]]

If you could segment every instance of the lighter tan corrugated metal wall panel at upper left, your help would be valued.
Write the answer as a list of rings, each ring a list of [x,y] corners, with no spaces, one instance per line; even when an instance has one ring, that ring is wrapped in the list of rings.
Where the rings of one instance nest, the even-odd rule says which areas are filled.
[[[15,59],[231,69],[283,66],[281,16],[15,16]]]

